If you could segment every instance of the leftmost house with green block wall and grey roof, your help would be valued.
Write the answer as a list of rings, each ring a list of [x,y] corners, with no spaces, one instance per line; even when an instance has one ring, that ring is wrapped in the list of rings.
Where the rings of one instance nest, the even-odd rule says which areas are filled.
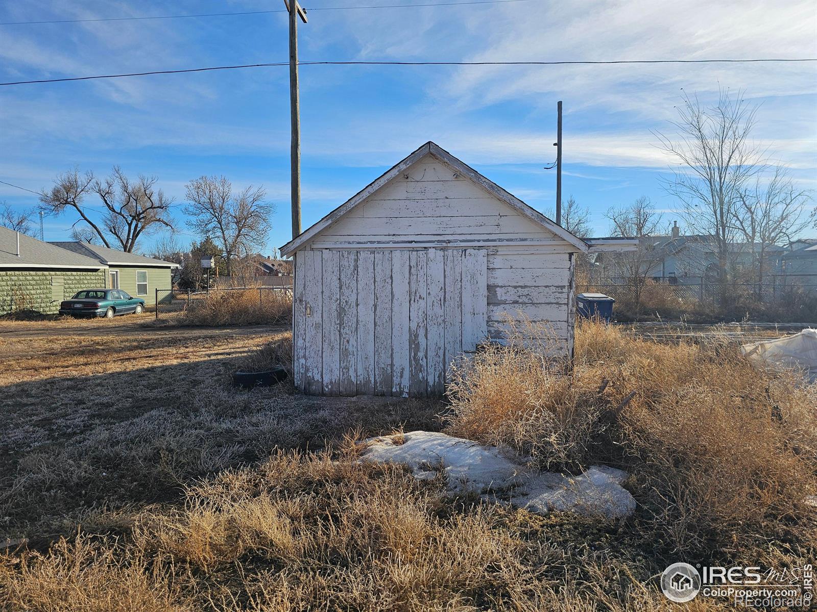
[[[0,315],[54,314],[78,290],[105,286],[106,276],[98,259],[0,227]]]

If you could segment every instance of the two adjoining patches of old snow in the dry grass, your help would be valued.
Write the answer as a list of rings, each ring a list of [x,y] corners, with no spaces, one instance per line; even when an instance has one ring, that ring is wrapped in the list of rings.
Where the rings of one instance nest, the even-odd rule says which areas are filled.
[[[531,512],[576,512],[615,519],[636,509],[636,500],[621,486],[627,472],[615,468],[594,465],[577,477],[532,472],[494,446],[439,432],[373,437],[364,444],[362,461],[400,463],[423,480],[443,472],[453,492],[512,489],[511,504]]]

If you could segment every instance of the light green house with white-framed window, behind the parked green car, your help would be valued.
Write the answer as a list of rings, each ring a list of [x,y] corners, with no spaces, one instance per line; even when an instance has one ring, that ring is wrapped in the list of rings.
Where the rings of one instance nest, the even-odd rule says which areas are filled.
[[[173,287],[172,270],[179,264],[162,259],[153,259],[134,253],[109,249],[106,246],[87,242],[49,242],[65,251],[96,259],[107,268],[105,284],[111,289],[123,289],[130,295],[142,298],[145,304],[156,303],[155,290],[169,290]],[[159,301],[170,299],[169,291],[159,295]]]

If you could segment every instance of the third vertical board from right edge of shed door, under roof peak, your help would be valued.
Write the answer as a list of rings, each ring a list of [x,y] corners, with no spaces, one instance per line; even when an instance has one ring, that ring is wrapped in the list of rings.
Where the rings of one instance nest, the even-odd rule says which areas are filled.
[[[426,353],[428,392],[442,395],[445,384],[444,262],[440,249],[426,251]]]

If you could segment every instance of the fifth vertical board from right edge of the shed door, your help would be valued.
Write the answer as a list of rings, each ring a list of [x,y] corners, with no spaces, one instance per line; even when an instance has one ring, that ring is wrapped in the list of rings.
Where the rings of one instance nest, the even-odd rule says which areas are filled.
[[[391,253],[391,363],[392,394],[408,394],[408,326],[410,295],[408,291],[408,251]]]

